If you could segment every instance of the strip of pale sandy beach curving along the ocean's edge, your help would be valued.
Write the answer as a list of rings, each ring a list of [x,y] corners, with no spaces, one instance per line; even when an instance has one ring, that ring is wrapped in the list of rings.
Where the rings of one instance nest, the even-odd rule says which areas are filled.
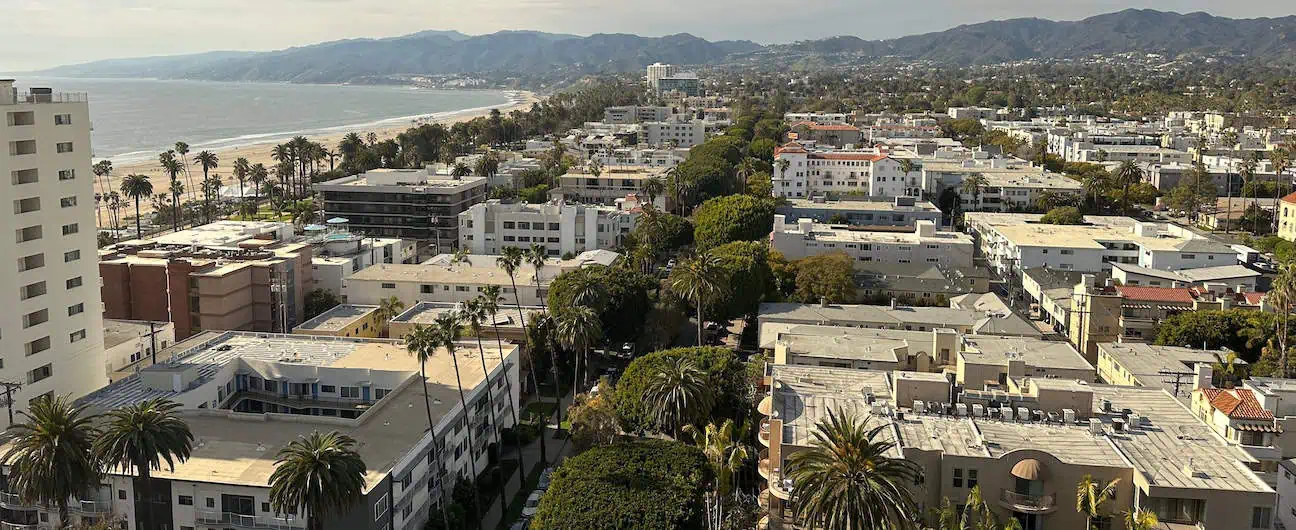
[[[359,132],[362,136],[368,132],[373,132],[375,135],[377,135],[378,141],[382,141],[386,139],[393,139],[397,135],[404,132],[406,130],[421,124],[441,123],[445,126],[450,126],[454,123],[468,122],[474,118],[487,117],[494,109],[499,109],[499,111],[503,114],[508,114],[513,110],[525,111],[530,109],[533,104],[540,101],[539,96],[537,96],[534,92],[530,91],[507,91],[507,92],[512,95],[511,97],[512,101],[502,105],[437,113],[441,114],[439,117],[437,114],[430,114],[419,117],[389,118],[381,122],[376,122],[376,124],[373,126],[368,124],[338,126],[338,127],[330,127],[329,128],[330,132],[328,133],[316,133],[305,136],[311,141],[324,144],[324,146],[327,146],[328,149],[336,150],[337,144],[342,141],[342,137],[345,137],[347,133],[351,132]],[[220,157],[220,166],[215,171],[213,171],[213,174],[219,175],[222,180],[226,183],[226,187],[237,188],[238,183],[231,175],[231,166],[233,166],[235,159],[248,158],[249,163],[253,165],[264,163],[267,168],[275,166],[276,162],[272,157],[272,152],[275,149],[275,145],[283,143],[284,140],[283,137],[279,137],[280,135],[272,135],[272,136],[276,137],[266,139],[263,141],[249,141],[246,144],[226,146],[226,148],[210,148],[210,146],[203,148],[201,145],[191,145],[189,157],[193,157],[196,152],[202,149],[207,149],[211,150],[213,153],[216,153]],[[101,192],[104,189],[106,189],[108,192],[117,190],[118,187],[121,185],[121,179],[131,174],[140,174],[148,176],[149,180],[153,183],[154,192],[165,190],[167,188],[168,178],[162,171],[162,168],[158,167],[156,154],[148,156],[146,158],[128,157],[127,159],[122,159],[122,157],[117,157],[117,159],[114,159],[110,157],[105,159],[113,161],[113,174],[105,179],[98,179],[95,183],[96,192]],[[194,172],[196,170],[191,167],[189,171]],[[183,181],[183,175],[181,175],[181,181]],[[185,183],[185,196],[188,196],[189,193],[191,189],[188,189],[188,183]],[[133,203],[128,210],[130,211],[127,215],[133,215],[135,213]],[[153,207],[146,201],[140,201],[141,215],[152,213],[152,210]]]

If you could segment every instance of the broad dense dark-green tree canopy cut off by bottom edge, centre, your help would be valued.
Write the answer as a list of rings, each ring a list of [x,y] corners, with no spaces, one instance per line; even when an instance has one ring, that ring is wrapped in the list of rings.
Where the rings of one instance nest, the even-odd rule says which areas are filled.
[[[710,479],[702,451],[679,442],[595,447],[553,472],[530,527],[701,530]]]

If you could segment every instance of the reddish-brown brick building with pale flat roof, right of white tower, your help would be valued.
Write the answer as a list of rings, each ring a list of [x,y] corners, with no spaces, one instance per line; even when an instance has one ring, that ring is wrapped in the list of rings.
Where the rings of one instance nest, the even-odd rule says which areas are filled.
[[[314,289],[312,246],[286,223],[222,220],[100,250],[104,316],[201,330],[286,332]]]

